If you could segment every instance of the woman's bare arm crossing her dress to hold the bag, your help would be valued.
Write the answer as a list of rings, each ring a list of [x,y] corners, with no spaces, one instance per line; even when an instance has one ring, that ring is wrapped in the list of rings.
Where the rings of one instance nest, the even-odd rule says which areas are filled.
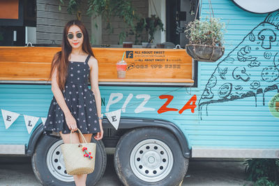
[[[63,111],[66,119],[66,123],[69,127],[70,130],[77,130],[77,122],[75,121],[75,118],[72,116],[70,113],[70,109],[68,108],[63,94],[59,88],[59,85],[56,80],[56,75],[57,75],[57,70],[56,68],[54,69],[54,72],[52,74],[52,93],[54,95],[54,98],[56,99],[56,102],[59,104],[59,107]]]

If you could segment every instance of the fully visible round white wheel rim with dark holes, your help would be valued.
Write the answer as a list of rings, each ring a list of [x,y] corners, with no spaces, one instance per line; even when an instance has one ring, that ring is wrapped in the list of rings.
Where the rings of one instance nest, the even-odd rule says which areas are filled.
[[[141,141],[130,154],[130,166],[133,173],[145,182],[163,180],[172,170],[173,164],[172,150],[158,139]]]

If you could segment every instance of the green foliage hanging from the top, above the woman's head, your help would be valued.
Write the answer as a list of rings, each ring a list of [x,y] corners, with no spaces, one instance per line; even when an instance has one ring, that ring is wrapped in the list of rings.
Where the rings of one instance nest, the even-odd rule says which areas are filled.
[[[64,0],[60,0],[62,4],[64,4],[63,1]],[[68,13],[77,13],[78,19],[81,19],[79,18],[81,2],[82,0],[70,0],[67,7]],[[61,8],[59,8],[59,10],[61,10]],[[140,20],[140,15],[135,13],[135,8],[132,6],[130,0],[88,0],[86,15],[92,15],[93,13],[95,13],[96,16],[102,16],[107,24],[106,29],[110,33],[113,32],[110,18],[119,17],[123,20],[125,26],[121,33],[119,33],[119,44],[122,44],[123,40],[125,40],[126,36],[129,34],[125,28],[130,27],[130,30],[135,32],[134,22]]]

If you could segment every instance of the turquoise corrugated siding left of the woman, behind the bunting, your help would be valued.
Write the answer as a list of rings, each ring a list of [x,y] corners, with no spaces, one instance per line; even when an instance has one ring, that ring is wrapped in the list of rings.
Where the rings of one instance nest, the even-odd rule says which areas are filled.
[[[1,84],[0,109],[16,112],[20,116],[6,130],[1,114],[0,144],[28,144],[31,134],[27,132],[23,115],[45,117],[51,98],[50,86]],[[37,125],[40,123],[39,119]]]

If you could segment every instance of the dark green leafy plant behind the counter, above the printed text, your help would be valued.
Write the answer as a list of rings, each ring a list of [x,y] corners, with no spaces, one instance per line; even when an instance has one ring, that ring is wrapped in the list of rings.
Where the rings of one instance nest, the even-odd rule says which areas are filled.
[[[149,33],[149,42],[154,39],[154,33],[157,30],[165,31],[164,24],[160,17],[157,15],[151,15],[151,17],[141,18],[135,26],[135,44],[140,44],[143,41],[142,32],[144,29]],[[140,38],[140,40],[139,40]]]

